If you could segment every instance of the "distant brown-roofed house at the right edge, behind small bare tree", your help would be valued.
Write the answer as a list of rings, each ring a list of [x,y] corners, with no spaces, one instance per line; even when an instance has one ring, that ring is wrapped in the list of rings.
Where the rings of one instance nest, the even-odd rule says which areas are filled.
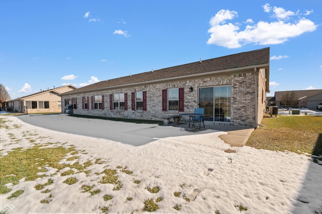
[[[316,109],[316,104],[322,102],[322,89],[276,91],[276,106],[279,108],[287,108],[282,102],[283,94],[286,92],[295,94],[295,101],[291,104],[292,108]]]

